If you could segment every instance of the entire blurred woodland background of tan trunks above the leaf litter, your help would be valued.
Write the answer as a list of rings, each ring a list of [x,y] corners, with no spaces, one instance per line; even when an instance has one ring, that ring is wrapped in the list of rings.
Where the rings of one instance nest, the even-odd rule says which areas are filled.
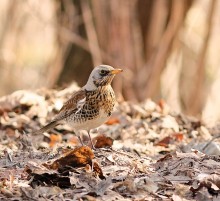
[[[0,93],[82,86],[104,63],[125,69],[113,83],[122,99],[165,98],[175,110],[211,114],[219,10],[216,0],[3,0]]]

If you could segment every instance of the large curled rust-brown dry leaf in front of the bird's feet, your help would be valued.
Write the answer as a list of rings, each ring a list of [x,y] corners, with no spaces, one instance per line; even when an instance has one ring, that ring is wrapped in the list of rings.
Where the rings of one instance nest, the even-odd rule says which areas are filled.
[[[67,167],[85,167],[92,165],[94,153],[87,146],[78,147],[64,154],[64,156],[55,160],[52,164],[44,164],[45,167],[53,170],[62,170]]]

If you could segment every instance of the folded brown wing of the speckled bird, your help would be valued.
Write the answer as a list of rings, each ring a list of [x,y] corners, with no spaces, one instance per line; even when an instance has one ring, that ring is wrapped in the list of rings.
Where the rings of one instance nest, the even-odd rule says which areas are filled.
[[[78,113],[82,109],[85,102],[86,91],[80,90],[75,92],[72,97],[64,103],[63,107],[61,108],[54,120],[60,121],[74,113]]]

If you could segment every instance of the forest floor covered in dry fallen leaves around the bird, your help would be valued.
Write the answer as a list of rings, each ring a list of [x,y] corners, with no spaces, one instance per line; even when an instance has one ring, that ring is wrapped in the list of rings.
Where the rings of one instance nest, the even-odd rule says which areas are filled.
[[[164,101],[119,103],[95,150],[66,125],[33,135],[76,89],[0,98],[0,200],[220,200],[219,126]]]

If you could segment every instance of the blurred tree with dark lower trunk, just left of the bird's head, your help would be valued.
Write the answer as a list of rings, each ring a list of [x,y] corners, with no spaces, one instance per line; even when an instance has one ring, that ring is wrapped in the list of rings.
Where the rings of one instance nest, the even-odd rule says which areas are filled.
[[[93,63],[90,49],[86,43],[85,26],[80,17],[82,16],[81,10],[79,0],[57,1],[58,48],[54,68],[49,73],[51,86],[54,83],[67,84],[73,80],[79,85],[83,85],[91,72]]]

